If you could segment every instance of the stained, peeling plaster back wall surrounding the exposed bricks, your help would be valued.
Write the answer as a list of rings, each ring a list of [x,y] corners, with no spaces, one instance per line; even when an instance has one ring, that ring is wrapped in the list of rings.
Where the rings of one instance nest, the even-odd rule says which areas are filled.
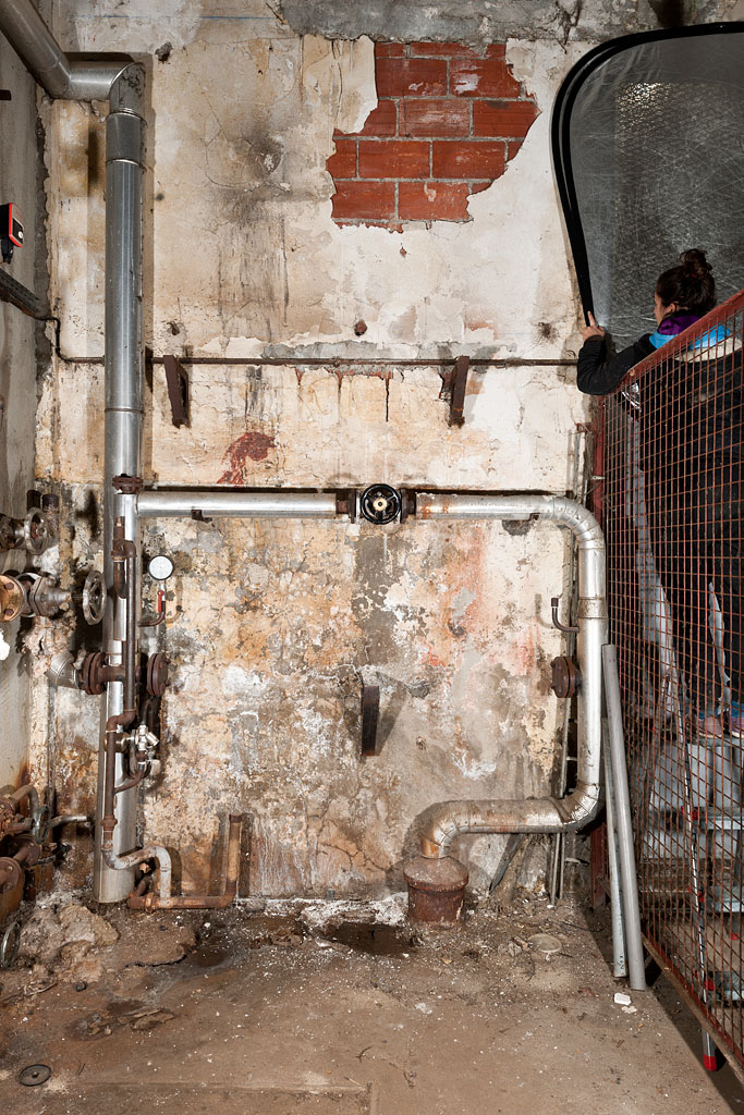
[[[148,343],[225,361],[193,368],[192,421],[181,429],[154,366],[147,482],[567,489],[584,405],[566,369],[477,370],[465,425],[451,429],[435,368],[341,376],[226,362],[576,351],[550,107],[608,12],[622,30],[636,6],[584,4],[586,28],[566,43],[547,32],[534,41],[516,11],[524,6],[497,7],[515,13],[509,33],[521,38],[506,58],[541,115],[506,173],[470,198],[472,222],[390,233],[334,224],[326,171],[334,129],[357,129],[375,107],[373,43],[358,36],[378,30],[387,6],[344,6],[355,22],[335,33],[356,41],[321,37],[320,8],[338,4],[302,4],[301,19],[300,6],[258,0],[157,12],[131,3],[126,14],[113,0],[58,6],[69,49],[148,56]],[[465,41],[470,17],[451,8],[442,33]],[[415,38],[437,33],[419,25]],[[158,48],[163,60],[152,57]],[[54,293],[73,359],[45,385],[37,452],[40,477],[61,485],[69,512],[69,576],[102,559],[103,370],[79,361],[103,350],[103,120],[97,107],[69,104],[49,117]],[[168,552],[175,576],[167,626],[147,636],[149,650],[167,651],[173,683],[163,772],[142,817],[148,840],[178,851],[184,889],[214,885],[228,812],[253,815],[243,880],[252,893],[361,894],[400,885],[416,817],[433,802],[549,791],[562,715],[548,692],[561,648],[550,597],[563,588],[562,532],[163,521],[145,547]],[[154,597],[147,581],[144,595]],[[97,649],[81,628],[58,628],[55,643],[66,639]],[[383,695],[381,752],[365,760],[361,677]],[[40,682],[37,708],[54,724],[59,807],[90,809],[97,701],[49,696]],[[493,837],[456,851],[483,883],[502,847]]]

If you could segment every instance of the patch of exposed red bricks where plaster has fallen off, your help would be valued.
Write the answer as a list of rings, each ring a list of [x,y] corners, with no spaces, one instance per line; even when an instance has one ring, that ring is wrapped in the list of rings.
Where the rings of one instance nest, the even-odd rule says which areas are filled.
[[[341,225],[468,221],[467,197],[504,173],[539,115],[503,42],[377,42],[379,101],[328,159]]]

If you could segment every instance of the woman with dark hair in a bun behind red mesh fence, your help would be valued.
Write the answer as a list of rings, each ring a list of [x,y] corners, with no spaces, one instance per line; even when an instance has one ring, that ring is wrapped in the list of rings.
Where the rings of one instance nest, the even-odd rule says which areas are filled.
[[[577,386],[607,395],[627,372],[715,306],[712,268],[699,249],[664,271],[654,290],[657,329],[613,357],[605,330],[589,314],[579,352]],[[744,735],[744,624],[740,608],[742,458],[741,371],[721,329],[684,350],[670,347],[634,388],[646,524],[654,562],[669,607],[677,663],[692,710],[705,735],[721,736],[721,663],[711,638],[713,584],[723,619],[731,683],[726,727]],[[715,334],[715,336],[714,336]]]

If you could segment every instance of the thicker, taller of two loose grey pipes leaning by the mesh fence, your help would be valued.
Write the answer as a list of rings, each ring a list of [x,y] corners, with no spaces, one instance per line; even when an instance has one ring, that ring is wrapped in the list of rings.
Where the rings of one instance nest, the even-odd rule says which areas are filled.
[[[609,643],[602,647],[602,665],[605,667],[605,696],[609,726],[612,786],[615,789],[615,821],[620,855],[629,982],[634,991],[645,991],[646,967],[644,963],[644,942],[640,935],[638,880],[636,878],[636,854],[632,841],[632,824],[630,821],[630,791],[628,788],[628,767],[622,735],[617,650]]]

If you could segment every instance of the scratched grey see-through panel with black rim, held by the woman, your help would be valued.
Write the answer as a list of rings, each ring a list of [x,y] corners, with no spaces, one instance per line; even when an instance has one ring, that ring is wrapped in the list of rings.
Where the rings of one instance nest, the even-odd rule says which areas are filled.
[[[553,159],[584,309],[618,350],[655,328],[648,275],[704,246],[719,298],[744,259],[744,25],[629,36],[563,83]]]

